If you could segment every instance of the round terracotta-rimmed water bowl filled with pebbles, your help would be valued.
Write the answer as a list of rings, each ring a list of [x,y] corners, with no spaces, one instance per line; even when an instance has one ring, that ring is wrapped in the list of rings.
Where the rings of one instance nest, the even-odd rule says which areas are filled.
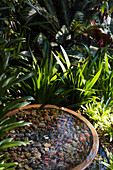
[[[17,121],[32,122],[30,127],[19,127],[7,134],[13,140],[32,140],[27,146],[4,151],[17,161],[16,169],[83,170],[95,158],[98,135],[92,124],[81,114],[67,108],[46,105],[41,111],[37,105],[28,105],[9,112]]]

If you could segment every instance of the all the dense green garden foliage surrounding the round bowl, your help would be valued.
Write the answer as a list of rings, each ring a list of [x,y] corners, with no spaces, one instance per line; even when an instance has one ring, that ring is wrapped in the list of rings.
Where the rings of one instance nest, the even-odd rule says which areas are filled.
[[[26,144],[2,140],[26,125],[2,118],[30,103],[79,110],[113,141],[112,11],[107,0],[0,2],[0,150]],[[7,159],[0,170],[16,166]]]

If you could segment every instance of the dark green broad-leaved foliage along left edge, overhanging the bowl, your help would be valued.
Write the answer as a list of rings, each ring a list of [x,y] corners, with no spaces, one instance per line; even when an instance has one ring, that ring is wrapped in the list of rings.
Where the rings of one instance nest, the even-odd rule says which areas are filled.
[[[4,137],[9,130],[20,126],[29,126],[31,123],[24,123],[23,121],[16,122],[15,117],[3,118],[9,111],[25,106],[30,103],[28,100],[33,100],[33,97],[31,96],[20,99],[17,98],[15,100],[9,92],[11,86],[26,80],[31,77],[33,73],[28,72],[25,74],[22,67],[9,67],[10,57],[15,56],[14,49],[21,39],[11,39],[12,35],[9,33],[10,28],[8,27],[9,19],[4,16],[5,11],[8,9],[9,7],[0,8],[0,11],[3,11],[0,20],[2,21],[2,24],[5,22],[5,25],[0,25],[0,151],[8,147],[26,145],[29,143],[29,141],[13,141],[12,138],[4,139]],[[14,45],[16,46],[14,47]],[[5,163],[9,158],[3,158],[3,156],[4,155],[0,155],[0,169],[13,169],[17,165],[17,162]]]

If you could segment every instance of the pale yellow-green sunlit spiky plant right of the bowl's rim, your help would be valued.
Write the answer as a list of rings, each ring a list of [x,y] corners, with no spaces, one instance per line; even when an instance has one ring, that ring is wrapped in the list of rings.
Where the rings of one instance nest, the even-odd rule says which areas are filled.
[[[94,121],[94,127],[97,131],[103,131],[104,134],[110,135],[110,142],[113,140],[113,110],[112,103],[110,98],[104,103],[104,97],[101,98],[101,101],[94,100],[92,103],[82,106],[86,114]]]

